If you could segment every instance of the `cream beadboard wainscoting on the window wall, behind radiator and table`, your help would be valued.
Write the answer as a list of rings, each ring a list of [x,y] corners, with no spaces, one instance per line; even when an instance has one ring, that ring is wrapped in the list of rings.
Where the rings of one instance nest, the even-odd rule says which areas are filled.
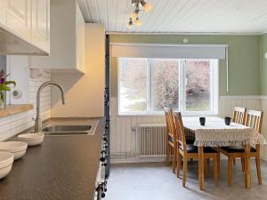
[[[219,98],[219,115],[221,117],[231,116],[233,107],[240,106],[250,109],[262,109],[261,96],[221,96]],[[165,116],[118,116],[117,115],[117,98],[111,98],[110,111],[110,153],[111,161],[119,162],[129,159],[135,159],[131,154],[134,152],[136,138],[135,128],[137,124],[157,124],[165,123]],[[263,111],[266,109],[267,113],[267,98],[263,104]],[[264,117],[263,117],[264,118]],[[265,119],[265,118],[264,118]],[[267,138],[267,119],[263,123],[263,132]],[[267,148],[263,150],[263,156],[266,155]]]

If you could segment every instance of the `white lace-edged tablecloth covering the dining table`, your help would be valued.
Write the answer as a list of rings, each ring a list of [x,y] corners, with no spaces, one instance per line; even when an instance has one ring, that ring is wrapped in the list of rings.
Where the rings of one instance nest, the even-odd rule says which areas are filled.
[[[220,117],[206,117],[206,125],[199,124],[198,117],[183,117],[183,125],[195,133],[195,146],[228,147],[250,144],[266,144],[263,135],[254,129],[241,124],[224,124]]]

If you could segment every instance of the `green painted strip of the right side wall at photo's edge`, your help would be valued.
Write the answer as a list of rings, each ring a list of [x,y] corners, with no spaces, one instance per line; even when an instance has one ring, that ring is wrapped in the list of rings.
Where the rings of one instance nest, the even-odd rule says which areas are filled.
[[[267,52],[267,34],[261,36],[261,51],[260,51],[260,71],[261,71],[261,94],[267,95],[267,59],[264,58],[264,53]]]

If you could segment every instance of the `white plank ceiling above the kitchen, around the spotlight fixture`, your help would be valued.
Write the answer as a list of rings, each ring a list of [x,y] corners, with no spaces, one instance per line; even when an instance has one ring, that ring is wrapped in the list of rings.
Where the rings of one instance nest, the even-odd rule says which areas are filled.
[[[266,0],[150,0],[142,26],[127,28],[131,0],[78,0],[86,22],[101,23],[116,33],[235,33],[267,32]]]

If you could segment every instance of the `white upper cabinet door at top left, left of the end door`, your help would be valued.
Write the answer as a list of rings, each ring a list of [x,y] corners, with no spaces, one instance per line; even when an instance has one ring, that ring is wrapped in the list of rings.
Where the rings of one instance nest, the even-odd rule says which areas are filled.
[[[6,0],[6,27],[17,36],[31,41],[30,0]]]

